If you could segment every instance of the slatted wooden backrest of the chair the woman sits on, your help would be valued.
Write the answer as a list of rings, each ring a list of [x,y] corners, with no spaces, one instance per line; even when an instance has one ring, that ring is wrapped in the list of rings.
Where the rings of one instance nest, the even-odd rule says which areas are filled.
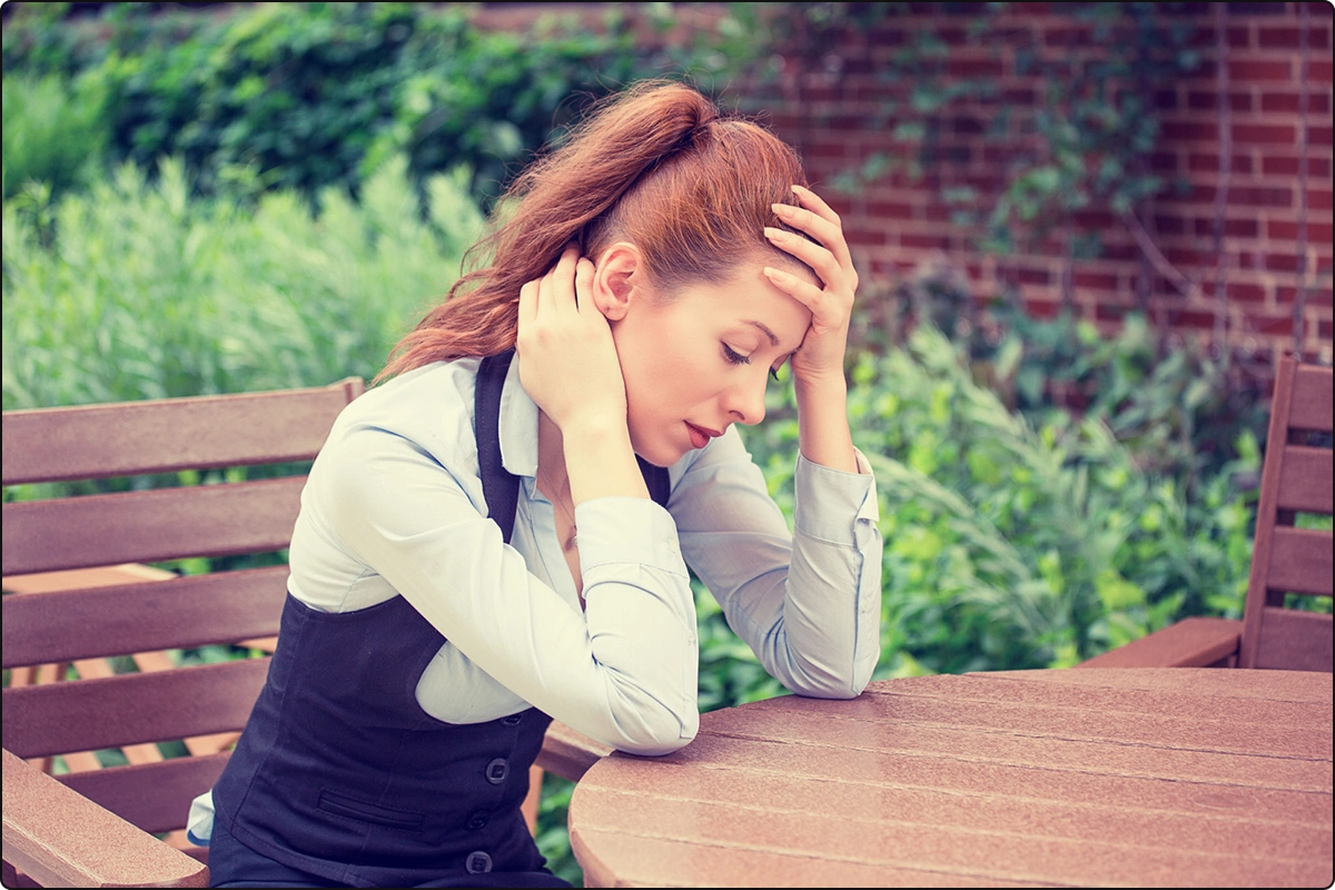
[[[362,380],[350,378],[310,390],[7,412],[4,486],[139,482],[113,494],[5,503],[5,590],[23,590],[31,572],[283,551],[304,464],[298,475],[240,482],[231,479],[246,474],[224,472],[218,484],[143,490],[143,476],[312,460],[362,391]],[[270,475],[284,470],[294,467]],[[91,753],[119,749],[128,766],[79,767],[60,781],[144,831],[175,831],[227,759],[218,745],[204,757],[172,757],[179,742],[202,750],[200,739],[234,737],[268,667],[267,658],[179,667],[176,654],[276,634],[287,566],[121,576],[144,580],[4,596],[3,662],[13,669],[4,749],[48,766],[59,755],[71,769],[95,767]],[[60,587],[69,575],[49,578],[53,584],[29,588]],[[59,682],[17,682],[23,671],[51,664],[60,666]],[[64,679],[72,673],[79,679]],[[156,755],[162,750],[166,758]]]

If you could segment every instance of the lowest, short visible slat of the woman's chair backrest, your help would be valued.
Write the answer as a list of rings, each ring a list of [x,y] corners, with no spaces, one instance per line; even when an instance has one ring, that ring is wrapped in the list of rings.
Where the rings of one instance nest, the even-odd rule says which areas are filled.
[[[190,802],[222,775],[231,753],[180,757],[144,766],[113,766],[93,773],[57,777],[59,781],[144,831],[186,827]]]

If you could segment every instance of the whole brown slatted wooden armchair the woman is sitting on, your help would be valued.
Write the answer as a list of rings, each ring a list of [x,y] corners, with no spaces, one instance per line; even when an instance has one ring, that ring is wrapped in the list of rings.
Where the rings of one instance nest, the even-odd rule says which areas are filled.
[[[207,849],[182,829],[222,773],[268,658],[180,667],[174,652],[238,642],[272,651],[287,566],[176,576],[143,563],[286,550],[304,484],[298,462],[360,392],[352,378],[4,415],[7,487],[263,464],[298,472],[4,504],[5,886],[207,886]],[[182,742],[190,755],[171,757]],[[127,765],[101,769],[96,753],[108,750]],[[525,803],[530,827],[543,767],[574,781],[609,751],[553,723]],[[69,771],[53,777],[56,757]]]

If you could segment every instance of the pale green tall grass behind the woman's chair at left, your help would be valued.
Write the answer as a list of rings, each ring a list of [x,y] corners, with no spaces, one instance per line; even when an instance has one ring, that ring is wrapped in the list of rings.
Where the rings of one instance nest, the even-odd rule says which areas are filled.
[[[192,201],[179,161],[4,204],[4,410],[370,379],[449,290],[482,219],[466,173],[395,159],[359,204],[326,191]]]

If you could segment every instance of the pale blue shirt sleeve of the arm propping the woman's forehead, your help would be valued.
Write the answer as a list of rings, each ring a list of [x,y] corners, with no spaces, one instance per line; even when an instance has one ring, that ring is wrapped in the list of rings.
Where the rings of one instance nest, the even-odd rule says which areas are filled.
[[[880,656],[876,483],[797,458],[793,532],[736,430],[710,442],[670,503],[686,562],[728,624],[793,693],[852,698]]]

